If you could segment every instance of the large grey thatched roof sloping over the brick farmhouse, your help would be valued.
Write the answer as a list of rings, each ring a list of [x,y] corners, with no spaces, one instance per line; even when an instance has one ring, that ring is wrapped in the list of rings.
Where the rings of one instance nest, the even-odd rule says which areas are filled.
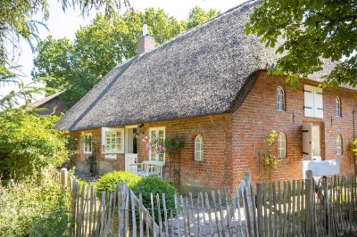
[[[85,130],[237,110],[254,72],[277,59],[274,49],[244,33],[257,4],[238,5],[115,67],[56,127]]]

